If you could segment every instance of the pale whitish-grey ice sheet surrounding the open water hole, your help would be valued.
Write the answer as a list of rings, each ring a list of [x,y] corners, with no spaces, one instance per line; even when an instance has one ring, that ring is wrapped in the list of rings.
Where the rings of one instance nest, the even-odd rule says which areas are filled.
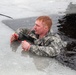
[[[75,0],[70,0],[75,3]],[[76,71],[62,65],[54,58],[45,58],[24,52],[21,45],[10,46],[10,35],[14,32],[10,25],[40,15],[63,15],[69,0],[0,0],[0,75],[76,75]],[[56,16],[55,16],[56,17]],[[19,20],[20,19],[20,20]],[[53,18],[53,30],[58,18]],[[7,23],[6,25],[3,23]]]

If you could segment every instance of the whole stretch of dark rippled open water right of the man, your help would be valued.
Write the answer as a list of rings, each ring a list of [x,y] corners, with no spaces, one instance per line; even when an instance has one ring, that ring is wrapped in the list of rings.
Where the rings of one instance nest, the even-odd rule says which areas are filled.
[[[57,56],[57,60],[76,70],[76,14],[66,14],[58,20],[58,23],[59,33],[68,44]]]

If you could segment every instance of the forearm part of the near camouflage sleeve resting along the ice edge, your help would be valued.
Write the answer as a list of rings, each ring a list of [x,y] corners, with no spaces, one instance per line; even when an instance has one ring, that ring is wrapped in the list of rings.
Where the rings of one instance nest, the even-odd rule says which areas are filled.
[[[60,53],[60,50],[56,50],[52,47],[44,47],[36,45],[32,45],[30,51],[40,56],[51,56],[51,57],[56,56]]]

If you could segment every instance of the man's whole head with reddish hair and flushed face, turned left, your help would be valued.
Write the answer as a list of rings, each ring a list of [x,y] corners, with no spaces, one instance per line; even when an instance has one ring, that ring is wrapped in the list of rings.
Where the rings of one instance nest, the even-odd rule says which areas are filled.
[[[52,20],[49,16],[40,16],[35,21],[34,30],[36,34],[44,34],[50,31]]]

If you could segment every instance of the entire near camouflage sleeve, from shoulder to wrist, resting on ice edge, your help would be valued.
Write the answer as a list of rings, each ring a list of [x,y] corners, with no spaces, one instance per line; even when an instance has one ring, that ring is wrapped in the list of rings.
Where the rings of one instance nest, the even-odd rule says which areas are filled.
[[[63,44],[61,39],[57,36],[54,36],[53,40],[54,41],[52,41],[48,46],[32,45],[30,51],[40,56],[57,56],[60,53],[60,49],[62,48]]]

